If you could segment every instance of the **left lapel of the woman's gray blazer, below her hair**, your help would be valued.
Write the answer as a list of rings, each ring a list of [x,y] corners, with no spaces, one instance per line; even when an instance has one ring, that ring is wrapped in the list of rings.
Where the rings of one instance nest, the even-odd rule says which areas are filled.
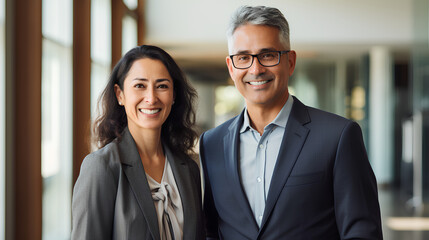
[[[126,128],[119,142],[119,154],[123,165],[124,173],[127,176],[134,196],[137,199],[140,209],[146,219],[149,231],[153,239],[160,239],[158,217],[155,205],[153,204],[149,184],[147,182],[145,170],[131,133]]]

